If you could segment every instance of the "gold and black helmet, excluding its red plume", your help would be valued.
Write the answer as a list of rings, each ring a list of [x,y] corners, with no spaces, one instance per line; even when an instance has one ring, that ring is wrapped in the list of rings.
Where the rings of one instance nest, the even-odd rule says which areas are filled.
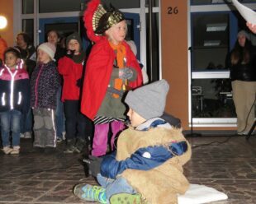
[[[99,4],[92,16],[92,29],[97,35],[102,35],[111,26],[115,26],[117,23],[125,20],[122,12],[112,5],[110,6],[111,8],[106,10],[102,4]]]

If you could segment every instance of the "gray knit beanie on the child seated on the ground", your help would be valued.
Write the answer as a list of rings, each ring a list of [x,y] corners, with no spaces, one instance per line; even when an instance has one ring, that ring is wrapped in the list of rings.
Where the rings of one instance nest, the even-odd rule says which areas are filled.
[[[126,104],[146,120],[160,117],[164,114],[168,82],[155,81],[135,90],[130,90],[126,95]]]

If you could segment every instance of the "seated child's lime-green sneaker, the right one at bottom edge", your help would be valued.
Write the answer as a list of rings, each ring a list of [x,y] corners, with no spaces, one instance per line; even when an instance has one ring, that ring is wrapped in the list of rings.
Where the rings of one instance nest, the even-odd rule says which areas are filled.
[[[140,194],[117,193],[110,198],[111,204],[146,204]]]

